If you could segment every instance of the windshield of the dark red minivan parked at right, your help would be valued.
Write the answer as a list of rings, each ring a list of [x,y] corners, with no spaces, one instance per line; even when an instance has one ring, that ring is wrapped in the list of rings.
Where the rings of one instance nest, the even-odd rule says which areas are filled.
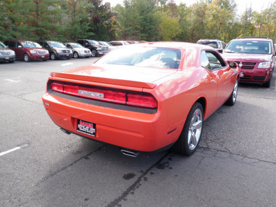
[[[271,42],[257,40],[230,41],[225,48],[225,52],[271,54]]]

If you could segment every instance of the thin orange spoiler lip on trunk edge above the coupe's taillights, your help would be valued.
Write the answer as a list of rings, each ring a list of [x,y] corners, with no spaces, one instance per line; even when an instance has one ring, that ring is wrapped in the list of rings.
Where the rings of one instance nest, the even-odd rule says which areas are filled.
[[[64,80],[69,81],[85,81],[85,82],[95,82],[95,83],[106,83],[109,85],[117,85],[117,86],[129,86],[134,88],[155,88],[156,83],[147,83],[141,81],[130,81],[124,79],[110,79],[104,77],[93,77],[87,75],[76,75],[76,74],[69,74],[63,72],[52,72],[50,74],[50,79],[57,79],[57,80]],[[66,80],[65,80],[66,79]]]

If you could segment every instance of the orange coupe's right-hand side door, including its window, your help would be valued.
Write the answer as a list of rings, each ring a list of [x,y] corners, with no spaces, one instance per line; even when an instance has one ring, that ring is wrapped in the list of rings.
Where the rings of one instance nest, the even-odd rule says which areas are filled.
[[[236,81],[237,70],[230,68],[224,59],[213,50],[205,50],[208,58],[209,70],[213,80],[217,83],[216,108],[219,108],[230,96]]]

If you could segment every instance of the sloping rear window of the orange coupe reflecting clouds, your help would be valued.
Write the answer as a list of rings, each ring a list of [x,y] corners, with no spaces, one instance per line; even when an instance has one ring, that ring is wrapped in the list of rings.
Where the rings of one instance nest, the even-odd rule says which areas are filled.
[[[179,68],[181,51],[170,48],[119,48],[103,56],[96,64],[115,64],[152,68]]]

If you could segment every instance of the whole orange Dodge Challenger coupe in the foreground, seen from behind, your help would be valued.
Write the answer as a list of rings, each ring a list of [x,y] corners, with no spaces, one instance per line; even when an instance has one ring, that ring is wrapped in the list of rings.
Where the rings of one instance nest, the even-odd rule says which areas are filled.
[[[64,132],[121,147],[125,155],[174,146],[192,155],[203,121],[237,99],[239,68],[208,46],[139,43],[90,66],[52,72],[43,104]]]

